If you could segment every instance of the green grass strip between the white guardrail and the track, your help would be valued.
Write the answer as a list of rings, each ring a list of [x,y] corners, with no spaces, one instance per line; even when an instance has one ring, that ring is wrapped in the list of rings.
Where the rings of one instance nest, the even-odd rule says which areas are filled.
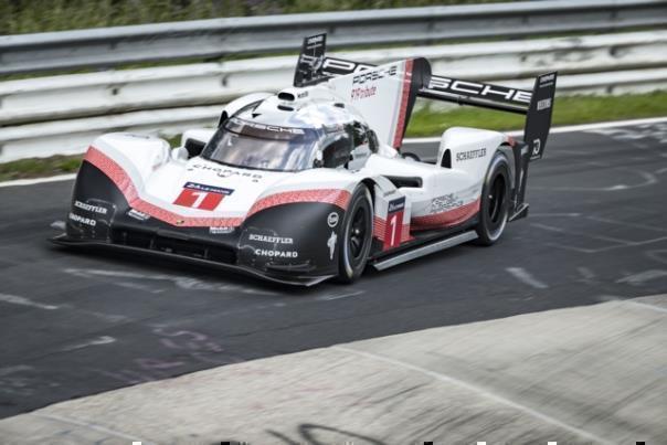
[[[625,96],[571,96],[557,98],[552,125],[658,116],[667,116],[667,92]],[[413,114],[406,134],[409,137],[440,136],[445,129],[455,126],[512,130],[523,128],[523,117],[473,107],[446,112],[423,108]],[[172,146],[178,140],[178,137],[169,139]],[[53,156],[0,163],[0,181],[75,172],[81,159],[82,156]]]

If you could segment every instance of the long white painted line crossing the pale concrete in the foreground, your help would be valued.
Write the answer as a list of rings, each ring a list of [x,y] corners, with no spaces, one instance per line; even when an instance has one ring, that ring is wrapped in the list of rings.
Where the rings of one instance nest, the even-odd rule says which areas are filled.
[[[576,426],[569,425],[569,424],[567,424],[564,422],[559,421],[558,418],[551,417],[550,415],[547,415],[544,413],[536,411],[532,407],[529,407],[529,406],[522,405],[520,403],[514,402],[514,401],[511,401],[509,399],[505,399],[501,395],[495,394],[493,392],[489,392],[489,391],[487,391],[487,390],[485,390],[483,388],[476,386],[474,384],[464,382],[463,380],[458,380],[456,378],[453,378],[453,377],[449,377],[449,375],[445,375],[445,374],[441,374],[438,372],[431,371],[431,370],[427,370],[425,368],[417,367],[415,364],[405,363],[405,362],[400,361],[400,360],[395,360],[395,359],[392,359],[392,358],[389,358],[389,357],[384,357],[384,356],[378,356],[378,354],[374,354],[374,353],[371,353],[371,352],[358,351],[356,349],[349,349],[349,348],[340,347],[340,346],[334,346],[334,347],[331,347],[331,349],[337,349],[339,351],[343,351],[343,352],[348,352],[348,353],[353,353],[353,354],[357,354],[357,356],[366,357],[367,359],[383,361],[385,363],[393,364],[394,367],[400,367],[400,368],[410,369],[412,371],[416,371],[416,372],[422,373],[424,375],[428,375],[428,377],[431,377],[431,378],[433,378],[435,380],[440,380],[441,382],[446,382],[446,383],[454,384],[454,385],[459,386],[459,388],[464,388],[464,389],[466,389],[468,391],[473,391],[473,392],[475,392],[475,393],[477,393],[477,394],[479,394],[479,395],[481,395],[481,396],[484,396],[486,399],[490,399],[490,400],[493,400],[495,402],[498,402],[498,403],[501,403],[501,404],[504,404],[506,406],[510,406],[510,407],[512,407],[515,410],[522,411],[523,413],[526,413],[526,414],[528,414],[528,415],[530,415],[532,417],[539,418],[539,420],[541,420],[543,422],[547,422],[547,423],[549,423],[551,425],[555,425],[558,427],[567,430],[570,433],[573,433],[573,434],[575,434],[578,436],[581,436],[581,437],[585,437],[589,441],[599,442],[601,444],[612,444],[611,442],[608,442],[608,441],[606,441],[606,439],[604,439],[602,437],[597,437],[594,434],[589,433],[587,431],[580,430]]]

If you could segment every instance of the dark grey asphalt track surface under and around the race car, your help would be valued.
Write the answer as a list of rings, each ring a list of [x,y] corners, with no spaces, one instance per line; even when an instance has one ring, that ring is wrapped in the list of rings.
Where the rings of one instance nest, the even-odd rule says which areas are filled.
[[[665,293],[667,124],[555,134],[547,150],[530,168],[531,214],[495,246],[311,289],[62,250],[46,240],[72,181],[1,188],[0,417],[274,354]]]

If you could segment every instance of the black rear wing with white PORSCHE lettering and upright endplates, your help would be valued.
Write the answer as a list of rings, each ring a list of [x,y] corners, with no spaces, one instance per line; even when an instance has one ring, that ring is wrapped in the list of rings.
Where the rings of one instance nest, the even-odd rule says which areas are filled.
[[[294,86],[307,86],[329,78],[373,68],[375,65],[327,57],[326,34],[304,40]],[[452,102],[459,105],[496,109],[526,116],[523,140],[530,159],[540,159],[547,147],[551,127],[557,73],[542,74],[536,78],[532,91],[510,88],[483,82],[428,74],[423,80],[417,97]]]

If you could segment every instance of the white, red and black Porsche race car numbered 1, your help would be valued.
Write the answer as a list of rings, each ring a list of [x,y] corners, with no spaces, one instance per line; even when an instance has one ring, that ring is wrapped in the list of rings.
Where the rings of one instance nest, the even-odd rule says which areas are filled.
[[[431,74],[424,59],[373,66],[304,40],[294,86],[240,97],[218,128],[171,149],[128,133],[98,137],[78,172],[67,246],[177,257],[273,282],[358,278],[476,240],[523,218],[542,157],[557,73],[532,92]],[[523,140],[449,128],[435,163],[401,152],[417,97],[526,116]]]

